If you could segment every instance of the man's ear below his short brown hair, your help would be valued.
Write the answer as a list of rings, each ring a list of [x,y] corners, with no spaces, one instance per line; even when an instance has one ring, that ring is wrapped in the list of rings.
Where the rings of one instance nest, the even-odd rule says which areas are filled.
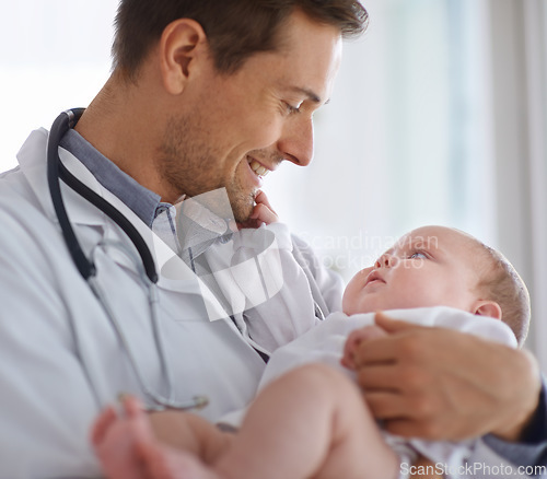
[[[178,95],[198,60],[209,56],[207,36],[198,22],[178,19],[163,31],[159,48],[165,90],[172,95]]]

